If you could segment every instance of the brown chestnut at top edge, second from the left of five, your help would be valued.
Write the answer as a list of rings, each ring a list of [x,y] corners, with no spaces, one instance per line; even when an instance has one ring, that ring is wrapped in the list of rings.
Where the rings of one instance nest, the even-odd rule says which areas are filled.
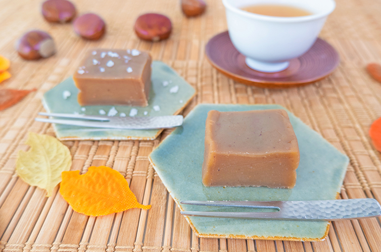
[[[42,16],[48,22],[66,23],[76,15],[75,6],[67,0],[47,0],[41,7]]]

